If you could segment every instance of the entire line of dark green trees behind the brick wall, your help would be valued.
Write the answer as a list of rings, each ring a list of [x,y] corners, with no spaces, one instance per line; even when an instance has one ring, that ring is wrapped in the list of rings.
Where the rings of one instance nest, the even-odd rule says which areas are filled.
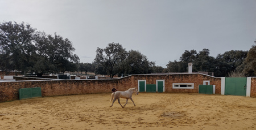
[[[209,49],[185,50],[179,61],[169,61],[167,68],[155,66],[146,55],[136,50],[126,51],[119,43],[110,43],[104,49],[97,47],[93,63],[80,63],[75,48],[68,38],[58,34],[46,34],[30,24],[0,23],[0,70],[16,70],[23,73],[64,73],[65,71],[92,72],[100,75],[142,74],[159,72],[214,72],[214,76],[242,73],[256,76],[256,45],[249,51],[230,50],[211,57]],[[239,75],[241,76],[241,75]]]

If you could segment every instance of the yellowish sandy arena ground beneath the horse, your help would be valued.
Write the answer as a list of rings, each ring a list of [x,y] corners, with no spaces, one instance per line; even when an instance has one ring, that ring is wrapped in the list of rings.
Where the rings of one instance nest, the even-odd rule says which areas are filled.
[[[0,129],[256,129],[256,98],[139,93],[125,108],[109,94],[0,103]],[[124,105],[126,99],[121,99]]]

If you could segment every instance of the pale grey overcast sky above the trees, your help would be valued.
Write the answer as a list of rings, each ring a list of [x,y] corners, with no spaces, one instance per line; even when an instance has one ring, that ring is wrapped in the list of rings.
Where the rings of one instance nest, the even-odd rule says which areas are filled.
[[[1,23],[68,38],[84,63],[112,42],[166,67],[185,50],[216,57],[256,39],[256,0],[0,0],[0,8]]]

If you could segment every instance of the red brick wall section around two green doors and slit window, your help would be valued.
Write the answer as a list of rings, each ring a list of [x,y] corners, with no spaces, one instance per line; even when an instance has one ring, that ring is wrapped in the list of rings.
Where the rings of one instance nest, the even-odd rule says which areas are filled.
[[[196,74],[174,74],[174,75],[133,75],[124,85],[138,87],[138,80],[146,80],[146,84],[156,84],[156,80],[164,80],[164,92],[170,93],[198,93],[199,85],[209,80],[210,85],[216,85],[216,94],[221,94],[221,78]],[[122,81],[122,80],[121,80]],[[194,83],[194,89],[172,89],[172,83]]]

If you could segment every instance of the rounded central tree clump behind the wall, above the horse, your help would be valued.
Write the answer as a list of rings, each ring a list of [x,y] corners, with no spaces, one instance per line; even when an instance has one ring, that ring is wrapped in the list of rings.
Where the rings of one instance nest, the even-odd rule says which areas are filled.
[[[111,78],[114,75],[159,72],[162,68],[154,66],[155,63],[148,61],[146,55],[139,51],[127,52],[121,44],[114,42],[108,44],[105,49],[97,48],[94,64],[96,64],[96,74],[110,75]]]

